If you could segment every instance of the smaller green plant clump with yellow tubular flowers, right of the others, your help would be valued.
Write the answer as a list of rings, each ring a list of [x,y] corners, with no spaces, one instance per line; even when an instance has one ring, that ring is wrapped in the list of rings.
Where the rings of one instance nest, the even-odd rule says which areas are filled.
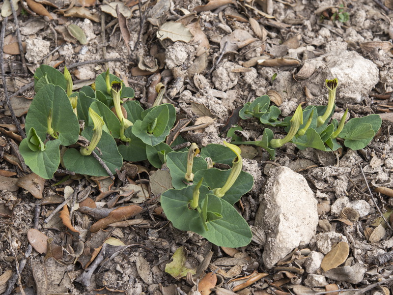
[[[283,139],[274,139],[273,131],[269,128],[263,130],[260,141],[244,142],[239,138],[232,141],[235,145],[255,145],[264,148],[271,158],[276,155],[276,148],[291,142],[297,148],[316,148],[324,151],[334,151],[342,146],[337,142],[337,138],[343,140],[344,146],[353,150],[362,149],[373,139],[382,124],[379,115],[369,115],[363,118],[352,118],[347,123],[345,119],[348,110],[337,121],[330,118],[336,108],[336,89],[338,80],[326,80],[326,87],[329,90],[327,106],[307,106],[304,110],[299,105],[293,117],[286,117],[279,120],[281,111],[276,106],[270,106],[270,98],[263,95],[253,102],[244,105],[239,116],[242,119],[258,118],[262,124],[270,126],[283,126],[287,135]],[[228,131],[228,136],[234,134],[234,130]]]

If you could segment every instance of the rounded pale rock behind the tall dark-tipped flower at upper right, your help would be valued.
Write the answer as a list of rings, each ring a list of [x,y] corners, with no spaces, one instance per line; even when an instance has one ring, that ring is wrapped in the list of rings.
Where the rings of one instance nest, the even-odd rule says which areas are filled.
[[[337,99],[342,103],[360,103],[379,81],[378,67],[356,51],[332,51],[310,59],[314,73],[306,80],[312,95],[328,93],[325,79],[338,79]]]

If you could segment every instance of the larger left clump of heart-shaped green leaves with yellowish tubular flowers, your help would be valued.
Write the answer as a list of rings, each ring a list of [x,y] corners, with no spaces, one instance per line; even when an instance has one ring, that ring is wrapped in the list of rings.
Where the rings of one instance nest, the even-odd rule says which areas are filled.
[[[242,171],[240,149],[231,144],[196,144],[174,151],[185,142],[166,140],[176,111],[162,103],[165,91],[157,87],[153,107],[144,110],[131,100],[134,90],[116,76],[100,74],[92,87],[73,92],[71,74],[41,65],[34,74],[36,95],[26,116],[27,138],[20,152],[40,177],[54,177],[59,166],[88,176],[112,176],[123,160],[167,164],[173,189],[161,195],[161,205],[173,226],[194,231],[225,247],[251,242],[247,222],[233,205],[253,187],[253,177]],[[230,169],[213,168],[214,163]]]

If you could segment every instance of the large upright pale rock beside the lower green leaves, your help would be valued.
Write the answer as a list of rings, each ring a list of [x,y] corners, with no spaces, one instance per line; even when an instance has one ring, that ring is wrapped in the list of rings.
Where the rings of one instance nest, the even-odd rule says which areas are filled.
[[[265,266],[272,268],[315,235],[317,201],[306,179],[287,167],[270,170],[263,197],[254,224],[266,233],[262,258]]]

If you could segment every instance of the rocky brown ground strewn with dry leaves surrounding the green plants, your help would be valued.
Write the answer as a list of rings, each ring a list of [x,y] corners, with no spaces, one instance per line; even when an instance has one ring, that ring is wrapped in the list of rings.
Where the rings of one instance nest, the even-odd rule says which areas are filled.
[[[392,1],[108,1],[111,6],[64,0],[49,1],[50,6],[37,0],[45,10],[32,0],[13,2],[19,38],[13,16],[5,19],[9,1],[0,4],[5,31],[0,294],[391,294]],[[116,4],[123,18],[117,18]],[[171,37],[162,37],[161,26],[175,21],[188,30],[168,29]],[[86,44],[70,33],[69,25],[84,31]],[[22,134],[6,96],[23,127],[34,96],[33,72],[41,64],[61,72],[67,65],[75,89],[90,85],[109,67],[135,89],[144,107],[152,105],[154,88],[163,83],[164,102],[174,104],[178,118],[207,124],[182,133],[199,146],[229,140],[226,131],[236,124],[243,128],[238,136],[260,140],[264,126],[256,119],[239,119],[239,107],[269,94],[282,116],[292,115],[300,103],[326,104],[324,82],[332,78],[339,81],[335,118],[349,109],[350,118],[380,114],[383,123],[371,143],[357,151],[299,150],[286,144],[270,159],[261,148],[249,148],[247,154],[244,148],[244,170],[255,181],[236,204],[253,231],[246,247],[217,247],[173,228],[158,196],[149,194],[155,169],[147,162],[135,163],[139,168],[124,163],[123,168],[128,173],[137,167],[130,179],[146,184],[143,193],[149,195],[123,196],[122,201],[147,210],[127,224],[90,234],[87,229],[98,217],[76,209],[73,225],[85,233],[80,240],[58,213],[51,215],[63,196],[74,189],[78,200],[90,197],[97,206],[109,207],[122,182],[120,177],[113,182],[76,176],[58,184],[64,175],[46,181],[31,177],[18,158]],[[280,128],[274,131],[284,134]],[[109,237],[125,246],[103,244]],[[196,269],[194,276],[175,279],[165,272],[179,248],[187,257],[185,266]],[[217,281],[209,279],[210,272]]]

